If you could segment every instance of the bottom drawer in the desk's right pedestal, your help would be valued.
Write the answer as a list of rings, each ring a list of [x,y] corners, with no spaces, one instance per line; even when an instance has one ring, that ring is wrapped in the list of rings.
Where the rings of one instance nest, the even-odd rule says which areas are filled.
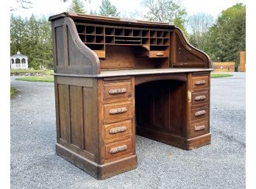
[[[191,137],[204,135],[208,132],[209,132],[208,119],[205,119],[204,121],[196,121],[196,123],[191,124]]]

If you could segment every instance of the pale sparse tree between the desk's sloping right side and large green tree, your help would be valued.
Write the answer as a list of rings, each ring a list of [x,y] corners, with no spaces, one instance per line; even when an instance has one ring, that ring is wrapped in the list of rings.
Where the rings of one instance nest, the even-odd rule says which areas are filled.
[[[207,31],[213,26],[213,16],[207,13],[196,13],[188,17],[189,41],[196,48],[205,51]]]

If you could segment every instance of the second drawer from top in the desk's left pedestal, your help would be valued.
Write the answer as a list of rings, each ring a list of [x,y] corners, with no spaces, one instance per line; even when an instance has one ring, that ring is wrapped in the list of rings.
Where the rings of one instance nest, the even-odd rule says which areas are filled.
[[[111,104],[103,104],[104,118],[109,119],[128,119],[132,118],[132,101],[121,101]]]

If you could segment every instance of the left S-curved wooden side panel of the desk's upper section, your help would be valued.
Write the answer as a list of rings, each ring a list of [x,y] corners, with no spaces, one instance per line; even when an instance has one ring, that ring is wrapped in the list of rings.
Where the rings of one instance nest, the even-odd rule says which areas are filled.
[[[74,21],[64,17],[51,20],[54,72],[99,74],[99,57],[82,43]]]

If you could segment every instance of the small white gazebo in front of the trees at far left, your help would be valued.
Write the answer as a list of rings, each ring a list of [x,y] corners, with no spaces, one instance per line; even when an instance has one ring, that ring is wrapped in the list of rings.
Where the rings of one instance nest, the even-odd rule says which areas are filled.
[[[11,69],[27,69],[29,68],[28,57],[21,54],[20,51],[10,57]]]

